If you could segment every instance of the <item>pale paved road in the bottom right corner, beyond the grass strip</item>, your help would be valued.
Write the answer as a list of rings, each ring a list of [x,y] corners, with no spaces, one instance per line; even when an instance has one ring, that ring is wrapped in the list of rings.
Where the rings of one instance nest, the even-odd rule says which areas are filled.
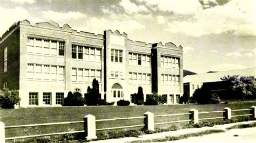
[[[192,137],[183,140],[177,141],[169,141],[175,143],[182,142],[256,142],[256,127],[251,128],[241,128],[241,129],[232,129],[225,130],[225,133],[217,133],[217,134],[208,134],[202,137]]]

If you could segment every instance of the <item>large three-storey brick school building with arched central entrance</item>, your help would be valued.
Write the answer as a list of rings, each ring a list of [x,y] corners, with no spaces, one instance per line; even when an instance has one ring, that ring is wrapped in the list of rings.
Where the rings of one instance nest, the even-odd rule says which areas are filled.
[[[141,86],[144,99],[157,92],[167,104],[183,95],[183,47],[146,44],[111,30],[78,32],[68,24],[17,22],[0,39],[0,87],[18,89],[21,106],[60,106],[69,91],[82,94],[99,82],[107,102],[125,99]]]

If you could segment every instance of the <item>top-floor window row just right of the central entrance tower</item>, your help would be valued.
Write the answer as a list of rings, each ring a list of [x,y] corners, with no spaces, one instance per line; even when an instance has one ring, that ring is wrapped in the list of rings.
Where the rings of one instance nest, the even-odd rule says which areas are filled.
[[[150,67],[150,55],[129,53],[129,65]]]

